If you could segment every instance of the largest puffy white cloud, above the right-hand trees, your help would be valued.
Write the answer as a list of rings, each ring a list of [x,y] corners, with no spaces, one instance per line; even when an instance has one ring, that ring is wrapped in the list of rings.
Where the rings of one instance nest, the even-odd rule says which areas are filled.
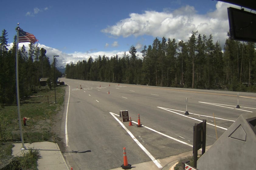
[[[207,14],[198,14],[193,6],[184,6],[172,12],[145,11],[142,14],[131,13],[125,18],[101,31],[112,36],[175,38],[187,41],[192,31],[201,35],[213,35],[214,41],[225,42],[229,30],[227,8],[228,3],[217,2],[216,10]]]

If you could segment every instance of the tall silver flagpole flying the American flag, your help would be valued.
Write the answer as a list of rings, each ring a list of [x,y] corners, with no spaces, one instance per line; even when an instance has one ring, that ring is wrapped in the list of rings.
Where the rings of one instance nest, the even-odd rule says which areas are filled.
[[[22,133],[22,126],[21,126],[21,116],[20,116],[20,103],[19,103],[19,23],[17,29],[17,47],[16,47],[16,87],[17,87],[17,103],[18,103],[18,115],[19,115],[19,129],[20,129],[20,137],[22,142],[21,150],[25,150],[24,140],[23,140],[23,133]]]

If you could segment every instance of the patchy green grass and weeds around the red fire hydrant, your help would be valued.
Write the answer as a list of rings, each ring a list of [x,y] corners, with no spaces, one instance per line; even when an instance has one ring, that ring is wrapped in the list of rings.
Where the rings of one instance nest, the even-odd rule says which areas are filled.
[[[65,86],[56,88],[56,100],[54,89],[47,86],[40,87],[35,97],[27,97],[20,101],[21,118],[27,117],[26,126],[23,125],[22,132],[25,143],[33,142],[57,142],[60,140],[58,134],[54,132],[54,125],[57,121],[56,114],[61,111],[64,102]],[[49,102],[48,102],[49,101]],[[0,169],[1,170],[36,170],[37,159],[40,152],[30,149],[26,154],[13,157],[13,143],[21,142],[18,107],[13,105],[0,106]]]

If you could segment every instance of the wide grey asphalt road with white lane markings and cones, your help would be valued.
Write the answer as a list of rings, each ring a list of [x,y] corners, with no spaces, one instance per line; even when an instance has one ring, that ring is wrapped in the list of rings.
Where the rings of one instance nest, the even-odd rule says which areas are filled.
[[[192,150],[195,123],[206,119],[208,146],[216,141],[216,133],[220,137],[241,114],[256,109],[254,93],[237,97],[237,92],[60,80],[69,85],[63,155],[76,170],[118,168],[124,163],[123,147],[129,164],[153,161],[161,169],[158,159]],[[133,126],[120,122],[121,110],[128,110]],[[138,114],[141,128],[136,126]]]

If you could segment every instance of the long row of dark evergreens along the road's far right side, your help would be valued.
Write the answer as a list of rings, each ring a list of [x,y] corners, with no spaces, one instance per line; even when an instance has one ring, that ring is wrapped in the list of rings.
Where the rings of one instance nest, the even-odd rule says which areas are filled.
[[[227,33],[229,34],[229,33]],[[132,45],[123,56],[101,56],[66,65],[66,77],[81,80],[256,92],[255,43],[192,32],[187,42],[154,39],[142,56]]]

